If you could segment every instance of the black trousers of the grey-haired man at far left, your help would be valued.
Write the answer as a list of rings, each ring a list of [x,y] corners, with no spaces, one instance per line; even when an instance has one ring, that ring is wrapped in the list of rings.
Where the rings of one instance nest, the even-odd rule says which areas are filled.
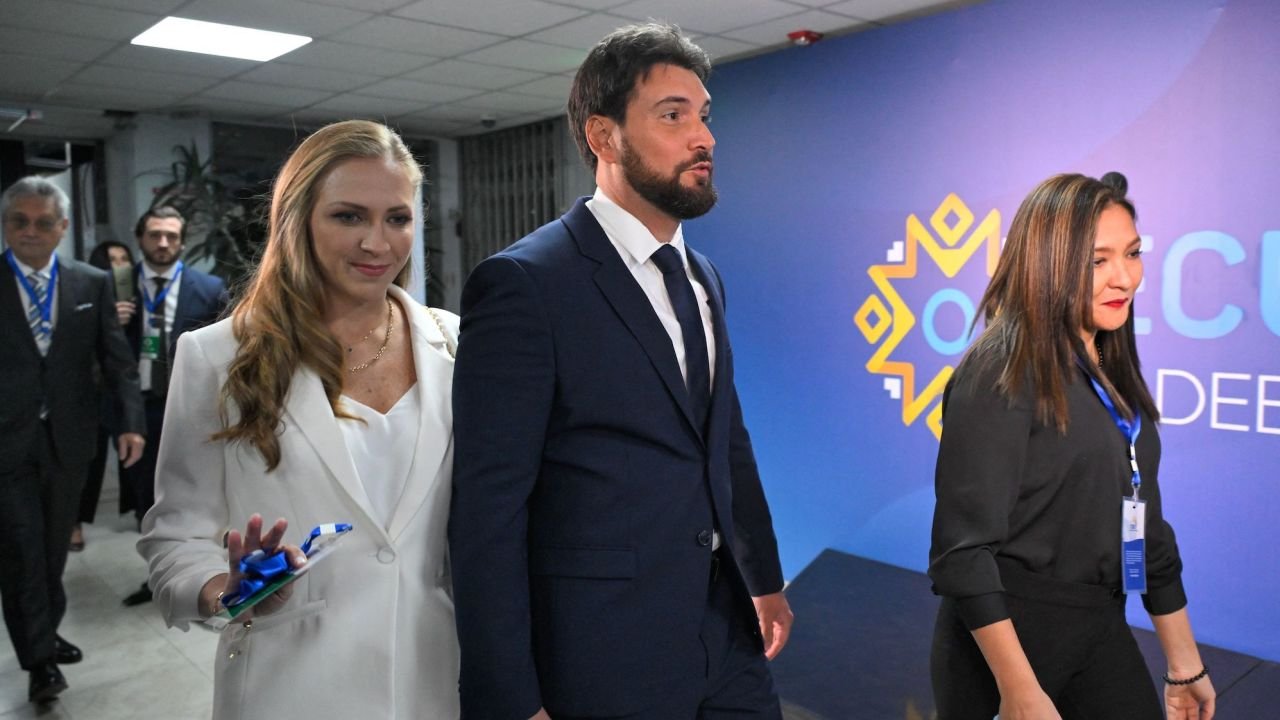
[[[0,469],[0,605],[24,670],[54,660],[67,612],[63,569],[86,468],[61,465],[47,423],[17,468]]]

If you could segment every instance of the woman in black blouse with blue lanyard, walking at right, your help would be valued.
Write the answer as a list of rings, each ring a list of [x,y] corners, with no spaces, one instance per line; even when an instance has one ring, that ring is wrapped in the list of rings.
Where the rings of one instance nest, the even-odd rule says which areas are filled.
[[[941,720],[1161,717],[1125,623],[1123,515],[1144,518],[1144,568],[1125,553],[1124,574],[1165,650],[1169,717],[1213,715],[1161,514],[1125,190],[1108,173],[1032,191],[979,306],[987,327],[947,386],[929,551],[943,598],[932,655]]]

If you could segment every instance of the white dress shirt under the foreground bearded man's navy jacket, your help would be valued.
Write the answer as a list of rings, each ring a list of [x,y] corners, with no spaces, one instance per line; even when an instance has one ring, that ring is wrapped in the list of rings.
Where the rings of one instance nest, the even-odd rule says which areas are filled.
[[[586,209],[595,215],[595,222],[600,223],[604,234],[618,251],[622,261],[631,275],[640,283],[653,311],[658,314],[662,327],[671,337],[671,345],[676,348],[676,361],[680,364],[680,374],[689,382],[689,372],[685,369],[685,336],[680,331],[680,319],[676,309],[671,306],[671,297],[667,296],[667,284],[662,279],[662,270],[653,263],[653,254],[663,243],[653,237],[649,228],[627,213],[617,202],[604,195],[600,188],[595,188],[595,195],[586,201]],[[671,238],[671,246],[680,252],[680,259],[685,264],[685,274],[694,286],[694,295],[698,297],[698,310],[703,315],[703,333],[707,334],[707,361],[710,363],[709,377],[714,387],[716,383],[716,333],[712,331],[712,306],[707,304],[707,288],[689,269],[689,256],[685,254],[684,224],[676,225],[676,234]]]

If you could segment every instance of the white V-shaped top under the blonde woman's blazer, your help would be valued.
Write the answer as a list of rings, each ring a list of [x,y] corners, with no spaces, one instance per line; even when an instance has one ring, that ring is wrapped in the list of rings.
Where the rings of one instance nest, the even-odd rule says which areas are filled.
[[[417,445],[417,430],[421,423],[421,400],[417,396],[417,383],[408,388],[385,415],[367,405],[342,396],[343,407],[361,419],[339,419],[347,451],[352,464],[365,486],[374,519],[389,528],[392,515],[399,503],[408,471],[413,465],[413,450]]]

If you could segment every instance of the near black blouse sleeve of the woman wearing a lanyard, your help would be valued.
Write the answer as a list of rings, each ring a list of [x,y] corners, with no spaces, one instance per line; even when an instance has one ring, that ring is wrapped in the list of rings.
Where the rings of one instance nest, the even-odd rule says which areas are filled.
[[[996,372],[966,370],[961,365],[942,401],[929,578],[974,630],[1009,618],[996,555],[1018,500],[1032,410],[1010,406]]]

